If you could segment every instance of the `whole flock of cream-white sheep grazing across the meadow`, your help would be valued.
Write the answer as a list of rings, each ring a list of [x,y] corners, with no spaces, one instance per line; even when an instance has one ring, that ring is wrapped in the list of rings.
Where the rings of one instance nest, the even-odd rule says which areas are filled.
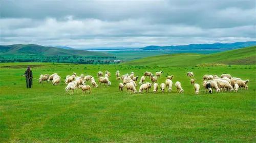
[[[165,91],[172,92],[173,89],[173,75],[167,76],[165,83],[160,83],[160,86],[158,85],[157,81],[159,77],[162,75],[163,71],[156,72],[155,76],[151,72],[145,72],[143,76],[141,76],[139,84],[139,93],[143,93],[145,91],[146,93],[150,91],[151,87],[153,87],[153,92],[158,92],[158,87],[162,93]],[[131,74],[125,74],[120,75],[119,71],[116,71],[116,79],[118,81],[122,80],[122,82],[119,83],[119,91],[123,91],[124,88],[126,88],[127,91],[132,91],[133,93],[137,92],[137,80],[139,79],[138,76],[135,76],[134,72]],[[103,76],[103,72],[99,71],[97,73],[98,76],[98,83],[106,84],[107,87],[111,85],[111,81],[109,81],[109,77],[111,76],[111,73],[109,71],[105,71],[105,74]],[[200,93],[200,85],[198,83],[195,83],[194,73],[193,72],[187,72],[187,76],[190,77],[190,83],[194,85],[195,94],[199,95]],[[152,83],[145,82],[146,78],[150,78]],[[44,81],[52,81],[53,85],[58,85],[60,83],[60,76],[57,73],[54,73],[52,75],[45,74],[40,75],[39,82],[42,83]],[[77,76],[76,73],[73,73],[72,75],[67,75],[65,78],[65,83],[67,84],[67,87],[65,88],[66,92],[69,94],[73,94],[74,90],[77,91],[77,89],[81,89],[82,93],[89,92],[91,93],[91,86],[86,85],[86,82],[90,82],[92,87],[98,88],[98,84],[96,83],[95,79],[91,75],[84,76],[81,74],[80,76]],[[206,90],[211,94],[212,89],[214,89],[216,92],[224,92],[224,91],[235,91],[238,92],[239,88],[245,88],[248,89],[247,83],[249,80],[242,80],[241,78],[237,77],[231,77],[230,74],[222,74],[221,77],[218,77],[217,75],[204,75],[203,76],[203,87],[204,92]],[[183,93],[184,90],[181,87],[181,83],[177,81],[175,84],[176,90],[178,93]],[[71,92],[69,92],[71,91]]]

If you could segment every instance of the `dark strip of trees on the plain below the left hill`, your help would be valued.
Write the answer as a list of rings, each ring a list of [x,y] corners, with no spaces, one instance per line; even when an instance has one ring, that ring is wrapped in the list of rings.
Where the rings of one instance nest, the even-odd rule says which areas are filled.
[[[122,61],[116,60],[116,56],[35,56],[16,55],[0,56],[1,63],[11,62],[46,62],[46,63],[76,63],[76,64],[112,64]]]

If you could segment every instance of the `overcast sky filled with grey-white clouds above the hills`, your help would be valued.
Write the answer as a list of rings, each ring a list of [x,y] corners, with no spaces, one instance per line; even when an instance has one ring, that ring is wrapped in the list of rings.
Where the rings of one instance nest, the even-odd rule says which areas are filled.
[[[0,0],[0,45],[144,47],[256,40],[256,0]]]

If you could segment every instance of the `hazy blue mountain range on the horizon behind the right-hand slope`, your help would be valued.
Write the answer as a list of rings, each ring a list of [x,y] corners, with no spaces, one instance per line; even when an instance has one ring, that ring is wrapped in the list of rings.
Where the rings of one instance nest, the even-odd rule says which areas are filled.
[[[256,41],[214,44],[189,44],[177,46],[146,46],[140,50],[193,50],[193,49],[236,49],[256,45]]]

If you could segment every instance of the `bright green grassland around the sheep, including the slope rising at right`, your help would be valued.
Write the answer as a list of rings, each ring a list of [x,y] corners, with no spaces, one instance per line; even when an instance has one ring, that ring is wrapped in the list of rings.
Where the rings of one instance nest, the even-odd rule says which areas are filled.
[[[253,52],[253,48],[207,57],[162,55],[121,65],[0,64],[0,142],[255,142],[255,52],[243,51]],[[238,58],[230,59],[238,51]],[[60,85],[45,82],[42,86],[34,80],[33,88],[26,89],[20,75],[27,65],[34,78],[58,73]],[[97,80],[97,72],[105,70],[112,74],[109,88],[92,88],[91,94],[65,93],[66,75],[75,72]],[[172,93],[154,94],[153,88],[148,94],[120,92],[116,70],[121,75],[133,71],[139,77],[145,71],[163,70],[158,83],[174,75],[173,82],[180,81],[184,93],[176,93],[174,84]],[[194,72],[200,95],[195,95],[188,71]],[[204,74],[223,73],[249,79],[249,89],[202,93]]]

